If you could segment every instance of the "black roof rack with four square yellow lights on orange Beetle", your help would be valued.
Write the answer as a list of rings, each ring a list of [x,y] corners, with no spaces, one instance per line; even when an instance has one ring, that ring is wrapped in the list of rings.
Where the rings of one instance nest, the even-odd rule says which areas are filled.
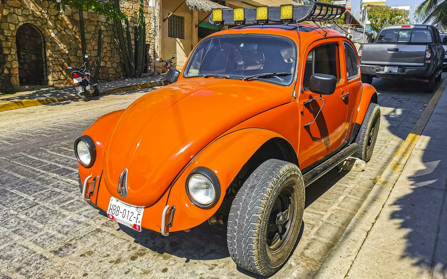
[[[342,17],[346,7],[313,2],[310,5],[286,4],[255,8],[215,8],[209,22],[212,25],[291,24],[303,21],[328,21]]]

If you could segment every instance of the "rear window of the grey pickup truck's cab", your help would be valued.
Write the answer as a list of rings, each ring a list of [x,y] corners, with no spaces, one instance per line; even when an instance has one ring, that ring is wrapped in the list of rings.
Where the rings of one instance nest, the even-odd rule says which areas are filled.
[[[427,29],[385,29],[380,32],[377,42],[432,42],[430,30]]]

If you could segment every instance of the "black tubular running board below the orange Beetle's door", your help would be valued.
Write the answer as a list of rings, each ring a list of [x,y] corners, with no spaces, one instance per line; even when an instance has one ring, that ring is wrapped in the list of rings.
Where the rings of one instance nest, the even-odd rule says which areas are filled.
[[[357,152],[359,147],[360,146],[358,143],[350,144],[349,146],[343,148],[342,151],[327,159],[325,162],[322,162],[320,165],[308,171],[305,175],[303,175],[304,187],[308,187],[316,179],[319,179],[321,175],[324,175],[326,172],[332,170],[333,167],[337,166],[346,158]]]

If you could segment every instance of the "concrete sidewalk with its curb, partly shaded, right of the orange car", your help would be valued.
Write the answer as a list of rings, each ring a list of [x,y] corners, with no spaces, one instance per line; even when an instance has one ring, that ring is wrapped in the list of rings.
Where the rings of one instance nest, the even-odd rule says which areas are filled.
[[[446,84],[315,278],[447,278]]]

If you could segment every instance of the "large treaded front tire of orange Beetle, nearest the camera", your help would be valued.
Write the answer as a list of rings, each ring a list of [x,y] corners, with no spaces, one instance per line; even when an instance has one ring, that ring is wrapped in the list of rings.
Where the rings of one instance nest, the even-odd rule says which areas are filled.
[[[278,234],[276,240],[284,240],[280,240],[281,246],[272,250],[268,244],[267,226],[271,228],[269,220],[275,214],[273,210],[278,196],[284,192],[291,192],[288,219],[284,223],[288,229],[283,238]],[[277,271],[295,246],[303,220],[304,195],[303,176],[293,163],[270,159],[253,171],[236,194],[228,217],[227,244],[232,260],[260,275]]]

